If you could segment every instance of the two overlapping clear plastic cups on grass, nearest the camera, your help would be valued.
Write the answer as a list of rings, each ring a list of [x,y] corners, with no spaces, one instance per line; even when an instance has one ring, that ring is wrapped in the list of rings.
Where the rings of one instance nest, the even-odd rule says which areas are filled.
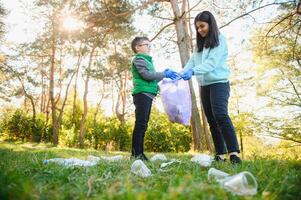
[[[216,180],[222,188],[236,195],[255,195],[257,193],[256,179],[247,171],[230,176],[223,171],[210,168],[208,180]]]

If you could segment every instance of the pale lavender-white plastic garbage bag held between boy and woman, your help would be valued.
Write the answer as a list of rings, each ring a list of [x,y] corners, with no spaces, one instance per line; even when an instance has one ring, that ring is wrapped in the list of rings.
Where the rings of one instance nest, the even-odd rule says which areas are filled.
[[[164,78],[159,82],[164,110],[172,122],[190,125],[191,97],[187,81]]]

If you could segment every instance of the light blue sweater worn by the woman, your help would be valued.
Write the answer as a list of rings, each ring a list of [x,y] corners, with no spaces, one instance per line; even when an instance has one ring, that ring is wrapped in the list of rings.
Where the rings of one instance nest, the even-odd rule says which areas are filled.
[[[194,52],[186,63],[183,72],[193,69],[199,85],[228,82],[230,69],[227,65],[228,47],[226,38],[219,34],[219,45]]]

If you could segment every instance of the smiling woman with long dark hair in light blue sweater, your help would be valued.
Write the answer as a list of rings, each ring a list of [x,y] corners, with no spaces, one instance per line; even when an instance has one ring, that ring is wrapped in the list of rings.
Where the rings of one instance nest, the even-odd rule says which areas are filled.
[[[181,76],[189,80],[195,75],[198,80],[201,102],[216,150],[215,160],[224,162],[229,153],[231,163],[241,163],[237,137],[228,115],[230,70],[226,63],[226,39],[220,34],[215,18],[209,11],[199,13],[194,24],[197,48]]]

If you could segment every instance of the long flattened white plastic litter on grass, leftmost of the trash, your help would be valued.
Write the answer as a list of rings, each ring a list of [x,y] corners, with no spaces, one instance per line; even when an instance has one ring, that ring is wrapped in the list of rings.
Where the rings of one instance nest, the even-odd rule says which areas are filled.
[[[57,163],[59,165],[63,165],[66,167],[73,167],[73,166],[91,167],[96,165],[97,161],[87,161],[78,158],[52,158],[49,160],[44,160],[43,163],[44,164]]]

